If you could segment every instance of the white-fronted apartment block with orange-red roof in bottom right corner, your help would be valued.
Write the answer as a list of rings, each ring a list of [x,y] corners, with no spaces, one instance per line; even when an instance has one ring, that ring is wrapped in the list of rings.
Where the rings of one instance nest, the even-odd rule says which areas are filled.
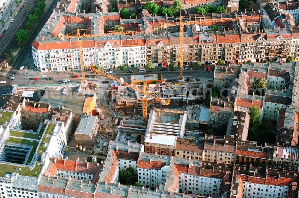
[[[290,171],[236,165],[230,197],[293,197],[296,177]]]

